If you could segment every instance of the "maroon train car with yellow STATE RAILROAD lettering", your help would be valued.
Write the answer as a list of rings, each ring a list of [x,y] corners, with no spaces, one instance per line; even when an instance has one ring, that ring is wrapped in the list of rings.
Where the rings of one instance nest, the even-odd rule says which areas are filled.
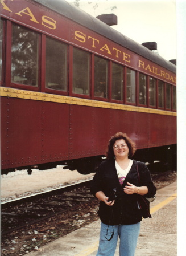
[[[64,0],[1,5],[1,172],[87,174],[115,132],[135,159],[176,152],[176,66]]]

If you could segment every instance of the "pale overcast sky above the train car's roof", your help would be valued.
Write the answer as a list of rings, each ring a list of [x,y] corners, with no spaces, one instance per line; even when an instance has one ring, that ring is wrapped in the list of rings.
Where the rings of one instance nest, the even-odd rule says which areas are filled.
[[[73,3],[77,0],[67,0]],[[140,44],[156,42],[158,54],[176,59],[176,0],[78,0],[80,8],[94,17],[114,13],[113,29]],[[112,7],[116,7],[112,10]]]

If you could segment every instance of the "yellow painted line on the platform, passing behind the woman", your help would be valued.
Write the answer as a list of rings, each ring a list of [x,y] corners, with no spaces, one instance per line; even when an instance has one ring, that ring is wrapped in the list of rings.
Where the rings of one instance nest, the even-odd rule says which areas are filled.
[[[155,205],[154,207],[152,207],[150,209],[151,214],[155,213],[157,210],[159,210],[163,206],[167,205],[169,202],[174,200],[176,197],[177,197],[177,193],[172,194],[172,196],[168,197],[166,200],[164,200],[164,201],[160,202],[158,205]],[[88,255],[90,255],[90,253],[93,253],[94,251],[96,251],[98,249],[98,246],[99,246],[99,241],[97,241],[96,243],[93,243],[92,246],[86,248],[85,250],[82,250],[81,253],[76,254],[75,256],[88,256]]]

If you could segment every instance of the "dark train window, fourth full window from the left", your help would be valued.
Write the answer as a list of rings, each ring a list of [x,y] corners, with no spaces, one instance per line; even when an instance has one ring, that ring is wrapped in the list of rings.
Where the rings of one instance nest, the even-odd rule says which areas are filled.
[[[94,96],[108,97],[108,61],[95,56],[94,60]]]

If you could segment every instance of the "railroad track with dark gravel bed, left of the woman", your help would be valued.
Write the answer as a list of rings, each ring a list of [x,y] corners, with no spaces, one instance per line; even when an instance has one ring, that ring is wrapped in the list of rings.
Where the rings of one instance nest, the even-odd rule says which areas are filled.
[[[1,235],[68,212],[94,197],[90,181],[41,192],[1,203]]]

